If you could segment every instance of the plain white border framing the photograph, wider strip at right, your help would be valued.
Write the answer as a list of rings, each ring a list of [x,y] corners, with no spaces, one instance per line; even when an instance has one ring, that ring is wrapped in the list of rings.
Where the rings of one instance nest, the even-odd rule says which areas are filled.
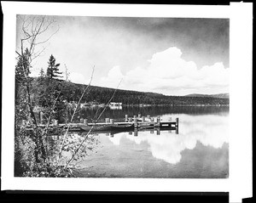
[[[230,202],[253,195],[253,3],[229,6],[1,2],[3,8],[2,190],[230,192]],[[176,178],[15,178],[16,14],[230,19],[230,176]]]

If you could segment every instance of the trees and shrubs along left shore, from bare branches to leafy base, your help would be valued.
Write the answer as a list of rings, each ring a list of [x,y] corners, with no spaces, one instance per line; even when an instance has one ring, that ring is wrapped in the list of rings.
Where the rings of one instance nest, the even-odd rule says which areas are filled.
[[[72,176],[70,168],[55,159],[55,149],[49,149],[47,140],[51,132],[49,123],[61,112],[62,82],[54,79],[61,77],[60,64],[55,64],[55,58],[51,55],[47,76],[43,69],[39,79],[30,76],[32,61],[44,51],[44,46],[40,49],[40,45],[55,34],[44,38],[44,32],[54,22],[46,16],[21,17],[22,34],[15,51],[15,176]],[[38,127],[35,110],[39,105],[46,116],[47,125],[44,128]]]

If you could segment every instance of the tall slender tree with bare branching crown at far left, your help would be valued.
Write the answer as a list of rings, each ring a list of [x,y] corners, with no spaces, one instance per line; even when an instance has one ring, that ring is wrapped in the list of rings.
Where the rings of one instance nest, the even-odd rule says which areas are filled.
[[[31,93],[31,81],[29,78],[30,68],[32,67],[33,59],[36,59],[40,54],[44,51],[44,46],[41,50],[36,50],[39,44],[43,44],[47,42],[58,30],[59,28],[52,33],[49,37],[44,39],[41,38],[41,42],[38,42],[38,37],[49,29],[49,25],[55,23],[55,20],[47,20],[46,16],[43,17],[24,17],[22,19],[22,25],[20,27],[22,31],[22,36],[20,37],[20,51],[16,49],[16,54],[19,55],[20,60],[20,70],[22,76],[22,85],[25,87],[26,91],[26,100],[28,106],[29,119],[32,120],[32,124],[35,125],[35,129],[33,131],[33,140],[35,141],[36,148],[34,150],[35,159],[39,162],[39,154],[41,153],[42,158],[45,159],[46,153],[44,149],[44,140],[43,135],[38,131],[38,122],[33,111],[32,105],[32,93]],[[40,38],[40,37],[39,37]],[[18,48],[18,47],[17,47]],[[40,46],[39,46],[40,48]]]

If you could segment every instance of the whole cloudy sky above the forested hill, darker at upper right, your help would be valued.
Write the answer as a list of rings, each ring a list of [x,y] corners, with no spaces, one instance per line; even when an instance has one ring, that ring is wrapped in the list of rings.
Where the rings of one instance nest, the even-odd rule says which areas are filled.
[[[17,16],[16,50],[22,19]],[[48,16],[38,37],[32,76],[47,70],[50,54],[72,82],[127,90],[187,95],[229,93],[228,19]],[[26,21],[28,22],[28,20]],[[26,24],[25,24],[26,25]],[[27,25],[29,29],[31,25]]]

